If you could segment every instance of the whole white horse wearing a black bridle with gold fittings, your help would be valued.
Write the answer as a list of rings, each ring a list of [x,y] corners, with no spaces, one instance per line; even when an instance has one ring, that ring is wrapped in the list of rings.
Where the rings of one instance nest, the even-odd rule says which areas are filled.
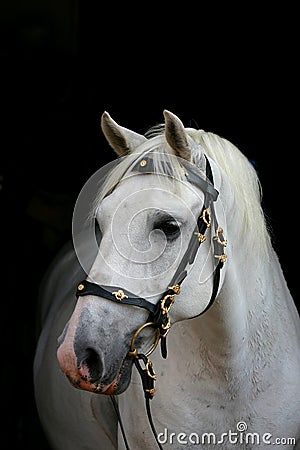
[[[142,136],[102,115],[120,158],[80,194],[76,254],[64,249],[42,290],[34,384],[49,443],[299,449],[300,320],[255,169],[164,118]]]

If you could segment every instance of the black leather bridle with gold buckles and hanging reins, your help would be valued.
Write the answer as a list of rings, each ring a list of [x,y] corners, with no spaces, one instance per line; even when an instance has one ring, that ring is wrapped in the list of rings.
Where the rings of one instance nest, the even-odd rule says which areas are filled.
[[[166,291],[162,294],[158,303],[152,304],[148,300],[138,297],[126,289],[118,286],[100,286],[99,284],[92,283],[87,280],[81,281],[78,284],[76,291],[77,298],[86,295],[93,295],[106,298],[107,300],[111,300],[119,304],[144,308],[149,312],[146,323],[138,328],[132,337],[128,356],[134,358],[135,365],[140,373],[149,422],[159,448],[162,447],[157,439],[157,433],[153,425],[149,403],[149,400],[152,399],[155,394],[154,382],[156,380],[156,374],[154,372],[152,362],[148,357],[155,350],[159,341],[161,343],[162,357],[167,357],[166,337],[171,327],[169,311],[174,303],[175,295],[180,294],[180,286],[188,273],[187,267],[194,263],[200,245],[206,240],[206,230],[211,228],[212,223],[215,224],[216,228],[216,235],[213,237],[213,245],[214,257],[218,259],[218,264],[214,271],[213,288],[209,303],[199,315],[204,314],[214,303],[220,283],[220,270],[222,269],[227,258],[224,252],[224,247],[226,247],[227,241],[224,237],[223,229],[218,226],[214,210],[214,202],[217,200],[219,192],[214,187],[214,180],[209,160],[206,158],[206,179],[203,179],[199,175],[197,168],[194,169],[190,164],[185,164],[184,162],[181,162],[181,164],[183,165],[186,180],[194,186],[200,188],[200,190],[204,193],[204,203],[201,213],[198,216],[196,227],[190,238],[187,250],[185,251],[185,254],[183,255],[172,280],[170,281]],[[151,159],[151,156],[147,156],[142,159],[138,164],[136,164],[133,170],[139,173],[154,173],[153,160]],[[156,330],[155,339],[151,348],[147,352],[138,353],[135,348],[136,338],[146,327],[151,327]],[[142,364],[144,367],[142,367]],[[125,446],[129,449],[116,401],[113,396],[111,397],[121,425]]]

